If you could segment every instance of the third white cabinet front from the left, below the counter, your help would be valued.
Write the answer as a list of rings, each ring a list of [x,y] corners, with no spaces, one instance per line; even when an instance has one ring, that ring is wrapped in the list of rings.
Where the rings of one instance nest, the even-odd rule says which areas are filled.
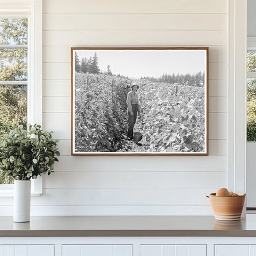
[[[140,256],[206,256],[206,245],[141,245]]]

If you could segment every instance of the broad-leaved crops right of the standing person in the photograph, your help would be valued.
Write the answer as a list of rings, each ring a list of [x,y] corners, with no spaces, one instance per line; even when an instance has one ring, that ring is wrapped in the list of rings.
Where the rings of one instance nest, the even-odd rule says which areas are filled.
[[[141,81],[142,144],[148,152],[204,150],[204,88]]]

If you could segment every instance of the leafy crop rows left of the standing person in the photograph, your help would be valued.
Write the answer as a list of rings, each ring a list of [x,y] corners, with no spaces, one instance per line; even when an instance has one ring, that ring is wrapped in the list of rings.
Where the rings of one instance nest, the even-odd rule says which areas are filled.
[[[76,73],[75,150],[115,152],[126,140],[126,84],[124,78]]]

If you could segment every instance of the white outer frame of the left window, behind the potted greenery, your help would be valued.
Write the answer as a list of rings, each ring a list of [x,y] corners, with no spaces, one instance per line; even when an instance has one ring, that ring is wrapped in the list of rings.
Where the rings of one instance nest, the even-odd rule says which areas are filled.
[[[42,0],[0,0],[0,18],[28,18],[28,124],[42,124]],[[0,185],[12,196],[14,185]],[[42,193],[42,178],[32,179],[31,193]]]

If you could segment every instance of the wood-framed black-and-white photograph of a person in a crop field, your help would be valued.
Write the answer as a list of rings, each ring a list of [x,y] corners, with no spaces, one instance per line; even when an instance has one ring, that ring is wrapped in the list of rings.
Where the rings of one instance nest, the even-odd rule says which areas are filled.
[[[208,47],[72,47],[72,155],[208,155]]]

